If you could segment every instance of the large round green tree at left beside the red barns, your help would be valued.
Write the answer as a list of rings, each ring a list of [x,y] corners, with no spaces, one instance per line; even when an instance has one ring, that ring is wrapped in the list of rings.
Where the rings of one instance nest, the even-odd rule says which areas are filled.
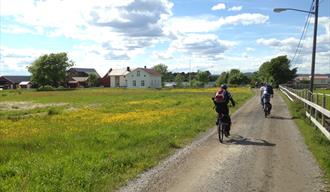
[[[74,64],[68,61],[66,53],[51,53],[36,59],[28,71],[32,74],[32,82],[41,86],[58,87],[66,81],[66,71]]]

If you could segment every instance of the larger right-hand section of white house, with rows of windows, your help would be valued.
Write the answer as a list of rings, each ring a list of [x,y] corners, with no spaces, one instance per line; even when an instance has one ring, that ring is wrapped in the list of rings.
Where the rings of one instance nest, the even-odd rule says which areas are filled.
[[[161,88],[161,74],[153,69],[137,68],[126,75],[128,88]]]

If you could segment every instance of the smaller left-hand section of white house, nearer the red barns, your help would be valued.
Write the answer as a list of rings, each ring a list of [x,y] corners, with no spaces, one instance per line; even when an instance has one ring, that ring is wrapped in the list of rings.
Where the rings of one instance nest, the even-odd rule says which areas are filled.
[[[127,87],[127,74],[130,73],[130,68],[126,69],[111,69],[108,73],[110,77],[110,87]]]

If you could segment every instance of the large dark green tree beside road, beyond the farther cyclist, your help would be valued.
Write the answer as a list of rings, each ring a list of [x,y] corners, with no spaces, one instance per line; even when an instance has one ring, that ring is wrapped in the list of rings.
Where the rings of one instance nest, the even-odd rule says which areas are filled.
[[[290,69],[290,60],[286,55],[273,58],[259,68],[262,80],[273,83],[275,86],[293,80],[296,73],[297,68]]]

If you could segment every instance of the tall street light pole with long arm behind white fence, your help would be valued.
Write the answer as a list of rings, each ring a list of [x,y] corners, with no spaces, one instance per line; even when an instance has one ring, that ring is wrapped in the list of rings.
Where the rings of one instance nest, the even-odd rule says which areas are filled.
[[[293,8],[275,8],[273,11],[276,13],[280,13],[282,11],[292,10],[292,11],[299,11],[309,14],[314,14],[314,34],[313,34],[313,52],[312,52],[312,66],[311,66],[311,80],[310,80],[310,87],[309,90],[313,92],[314,90],[314,73],[315,73],[315,58],[316,58],[316,43],[317,43],[317,23],[319,17],[319,0],[315,1],[315,11],[305,11],[300,9],[293,9]]]

